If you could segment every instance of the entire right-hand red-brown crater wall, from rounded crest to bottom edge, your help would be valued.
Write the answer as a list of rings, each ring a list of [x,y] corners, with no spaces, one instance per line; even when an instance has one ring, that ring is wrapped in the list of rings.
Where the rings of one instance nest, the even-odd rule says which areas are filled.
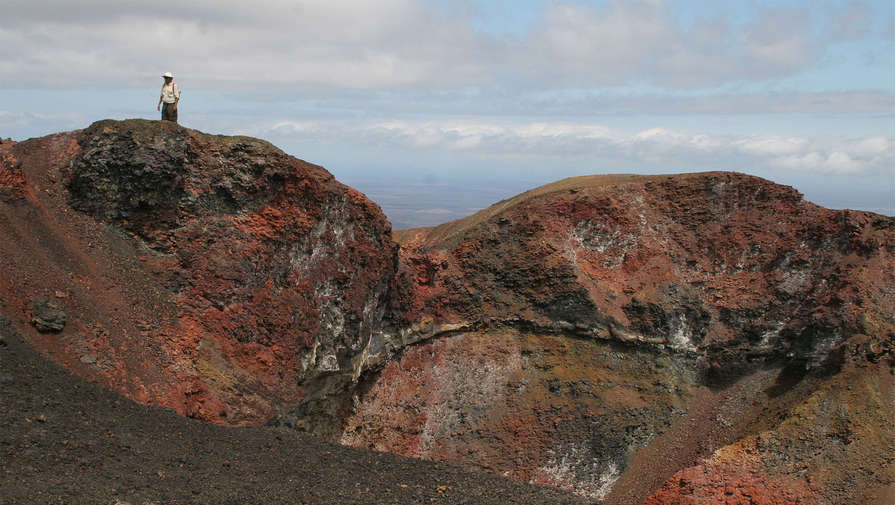
[[[368,377],[344,443],[607,503],[891,497],[892,218],[594,176],[396,235],[432,340]]]

